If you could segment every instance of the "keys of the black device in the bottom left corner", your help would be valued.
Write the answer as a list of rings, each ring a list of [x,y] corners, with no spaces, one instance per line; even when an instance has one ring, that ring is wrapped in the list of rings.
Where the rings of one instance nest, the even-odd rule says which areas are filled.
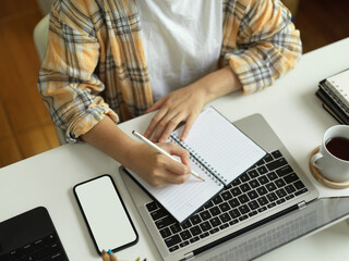
[[[1,261],[68,261],[58,236],[51,234],[43,239],[13,249],[0,257]]]

